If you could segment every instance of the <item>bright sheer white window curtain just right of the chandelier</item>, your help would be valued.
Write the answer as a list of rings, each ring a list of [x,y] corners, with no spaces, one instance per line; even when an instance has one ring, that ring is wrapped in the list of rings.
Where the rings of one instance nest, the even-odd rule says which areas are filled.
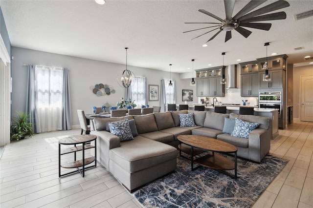
[[[131,86],[131,93],[137,107],[147,105],[147,81],[145,77],[135,77],[135,83]]]

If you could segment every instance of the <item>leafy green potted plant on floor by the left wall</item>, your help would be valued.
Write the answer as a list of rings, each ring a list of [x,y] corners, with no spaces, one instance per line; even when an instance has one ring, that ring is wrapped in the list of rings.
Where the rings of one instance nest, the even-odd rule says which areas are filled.
[[[25,112],[17,112],[17,117],[12,118],[11,140],[24,139],[26,135],[34,136],[32,124],[29,123],[29,115]]]

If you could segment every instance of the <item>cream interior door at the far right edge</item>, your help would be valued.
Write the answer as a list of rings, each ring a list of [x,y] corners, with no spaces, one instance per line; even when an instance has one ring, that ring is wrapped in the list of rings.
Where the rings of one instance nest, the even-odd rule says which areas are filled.
[[[301,77],[300,121],[313,122],[313,75]]]

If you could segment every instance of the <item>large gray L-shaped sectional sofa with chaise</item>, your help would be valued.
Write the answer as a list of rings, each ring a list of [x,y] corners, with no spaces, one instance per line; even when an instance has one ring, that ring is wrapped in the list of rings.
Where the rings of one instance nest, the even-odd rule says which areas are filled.
[[[179,114],[193,113],[196,126],[180,127]],[[134,140],[120,142],[110,133],[108,122],[127,118]],[[239,118],[260,125],[240,138],[223,133],[225,118]],[[183,134],[208,136],[231,143],[237,155],[261,162],[270,148],[270,120],[253,115],[221,114],[209,111],[168,111],[141,116],[95,118],[90,134],[97,136],[97,160],[130,192],[176,169],[179,141]]]

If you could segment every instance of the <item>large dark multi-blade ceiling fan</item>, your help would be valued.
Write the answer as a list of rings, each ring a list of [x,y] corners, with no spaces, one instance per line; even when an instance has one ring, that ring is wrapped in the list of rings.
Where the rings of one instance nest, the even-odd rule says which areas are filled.
[[[243,35],[245,38],[247,38],[252,32],[243,28],[243,27],[250,27],[260,30],[269,30],[271,27],[271,23],[256,23],[257,21],[270,21],[270,20],[284,20],[286,19],[286,13],[285,12],[276,12],[271,14],[266,14],[268,12],[272,12],[278,9],[282,9],[285,7],[290,6],[290,4],[285,0],[278,0],[271,4],[268,4],[267,6],[264,6],[260,9],[257,9],[253,12],[254,8],[261,5],[267,0],[251,0],[249,1],[244,8],[242,8],[234,17],[232,17],[232,13],[235,6],[235,0],[224,0],[225,5],[225,14],[226,19],[221,19],[214,14],[205,11],[204,9],[199,9],[199,12],[208,15],[220,22],[185,22],[186,24],[217,24],[215,26],[209,26],[209,27],[203,27],[200,29],[195,30],[189,30],[183,33],[196,31],[196,30],[202,30],[206,28],[212,28],[217,27],[213,30],[210,30],[206,33],[203,33],[202,35],[205,35],[209,32],[212,32],[214,30],[220,29],[214,36],[212,36],[207,42],[213,40],[218,34],[220,34],[222,31],[226,31],[225,36],[225,42],[227,42],[229,39],[231,39],[231,31],[236,30],[241,35]],[[248,13],[250,12],[250,13]],[[247,14],[248,13],[248,14]],[[266,14],[266,15],[264,15]],[[202,36],[200,35],[200,36]],[[193,39],[199,38],[200,36],[197,36]],[[191,39],[191,40],[193,40]]]

